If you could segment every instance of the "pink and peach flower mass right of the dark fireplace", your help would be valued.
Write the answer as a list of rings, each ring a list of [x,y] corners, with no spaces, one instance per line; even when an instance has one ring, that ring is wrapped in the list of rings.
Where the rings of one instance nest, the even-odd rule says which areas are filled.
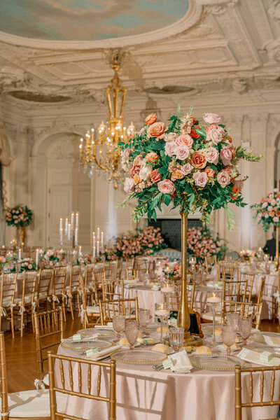
[[[217,255],[217,259],[224,257],[228,248],[223,239],[216,239],[207,228],[188,229],[188,255],[197,259],[197,267],[204,267],[206,257]]]

